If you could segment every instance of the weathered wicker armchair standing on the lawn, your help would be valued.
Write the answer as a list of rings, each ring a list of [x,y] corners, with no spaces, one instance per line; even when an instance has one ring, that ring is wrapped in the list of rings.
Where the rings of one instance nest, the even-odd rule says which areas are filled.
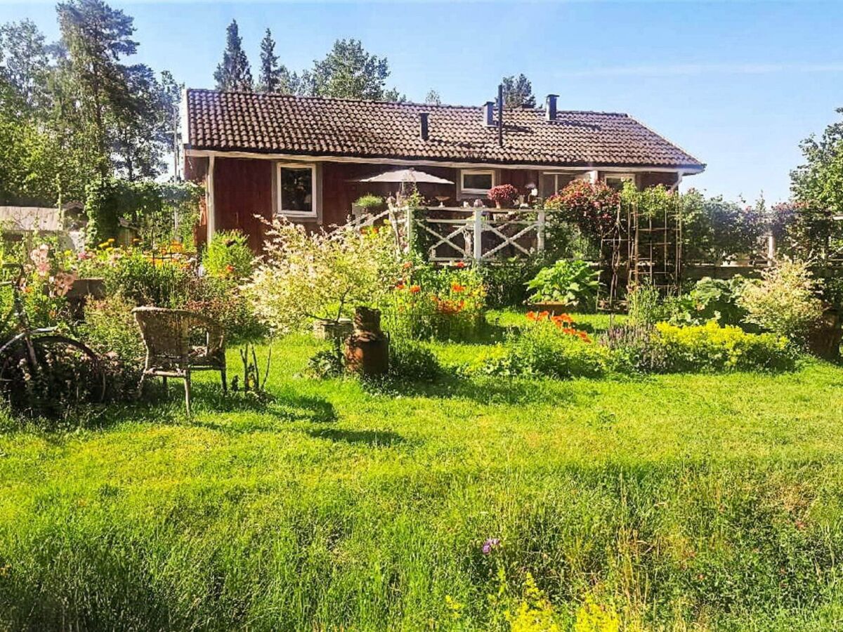
[[[215,320],[201,313],[184,309],[134,308],[137,325],[141,328],[147,360],[143,367],[143,388],[147,376],[181,378],[185,381],[185,407],[191,414],[191,372],[219,371],[223,393],[227,392],[225,378],[225,335]],[[200,345],[191,344],[198,341]]]

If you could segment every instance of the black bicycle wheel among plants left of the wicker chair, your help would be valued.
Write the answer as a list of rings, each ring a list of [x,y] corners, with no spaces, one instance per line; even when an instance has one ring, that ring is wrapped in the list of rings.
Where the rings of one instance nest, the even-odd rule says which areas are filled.
[[[13,408],[60,416],[74,404],[99,404],[105,399],[105,371],[87,345],[63,335],[40,335],[30,341],[35,366],[23,339],[0,360],[0,388]]]

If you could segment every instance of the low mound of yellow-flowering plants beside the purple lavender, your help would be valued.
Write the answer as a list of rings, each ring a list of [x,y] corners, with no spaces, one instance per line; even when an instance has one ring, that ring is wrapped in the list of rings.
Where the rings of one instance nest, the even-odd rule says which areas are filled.
[[[659,323],[656,331],[669,371],[788,370],[796,361],[784,336],[748,334],[713,320],[689,327]]]

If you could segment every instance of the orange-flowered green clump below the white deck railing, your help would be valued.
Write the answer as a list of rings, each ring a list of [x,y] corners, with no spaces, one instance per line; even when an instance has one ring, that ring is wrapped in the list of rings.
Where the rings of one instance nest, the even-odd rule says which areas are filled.
[[[384,303],[384,327],[405,338],[464,340],[485,323],[485,307],[486,287],[475,270],[407,261]]]

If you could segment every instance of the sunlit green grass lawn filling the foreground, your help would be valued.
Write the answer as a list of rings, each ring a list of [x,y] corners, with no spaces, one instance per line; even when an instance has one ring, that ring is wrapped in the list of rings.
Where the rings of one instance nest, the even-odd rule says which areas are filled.
[[[316,349],[268,404],[0,432],[0,629],[507,629],[528,573],[561,629],[843,627],[843,368],[385,392]]]

